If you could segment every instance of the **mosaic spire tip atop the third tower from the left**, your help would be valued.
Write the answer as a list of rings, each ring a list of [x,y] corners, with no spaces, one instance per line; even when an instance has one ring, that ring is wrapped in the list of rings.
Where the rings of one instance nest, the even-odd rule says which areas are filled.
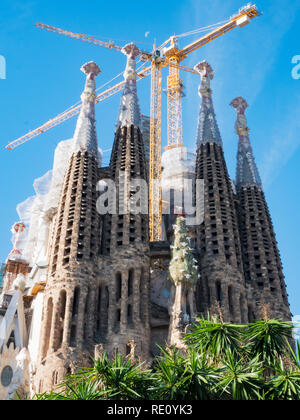
[[[198,92],[202,98],[197,128],[197,146],[201,143],[217,143],[222,146],[222,139],[212,102],[212,90],[210,88],[210,81],[214,77],[213,69],[206,61],[196,64],[194,69],[201,75],[201,84]]]

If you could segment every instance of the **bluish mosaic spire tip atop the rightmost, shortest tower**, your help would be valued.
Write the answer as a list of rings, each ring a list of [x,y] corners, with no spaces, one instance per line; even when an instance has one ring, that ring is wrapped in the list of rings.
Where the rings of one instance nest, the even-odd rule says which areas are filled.
[[[261,186],[261,179],[253,156],[252,147],[249,139],[249,128],[245,117],[247,102],[241,96],[233,99],[230,105],[236,110],[237,120],[235,131],[239,137],[236,169],[236,185],[242,186]]]

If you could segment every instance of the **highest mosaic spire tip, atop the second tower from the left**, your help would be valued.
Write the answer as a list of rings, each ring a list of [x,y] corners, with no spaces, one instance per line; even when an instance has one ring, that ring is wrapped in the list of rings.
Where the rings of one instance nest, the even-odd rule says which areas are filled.
[[[122,48],[122,53],[127,56],[127,64],[124,71],[125,87],[121,97],[117,128],[130,125],[140,127],[141,112],[136,89],[136,57],[139,56],[140,50],[130,43]]]

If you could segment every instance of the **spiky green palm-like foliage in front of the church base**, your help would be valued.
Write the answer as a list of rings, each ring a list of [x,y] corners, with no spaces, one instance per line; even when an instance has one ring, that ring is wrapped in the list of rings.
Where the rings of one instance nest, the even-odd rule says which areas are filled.
[[[162,348],[152,368],[104,353],[38,400],[299,400],[300,344],[279,320],[234,325],[200,318],[187,350]]]

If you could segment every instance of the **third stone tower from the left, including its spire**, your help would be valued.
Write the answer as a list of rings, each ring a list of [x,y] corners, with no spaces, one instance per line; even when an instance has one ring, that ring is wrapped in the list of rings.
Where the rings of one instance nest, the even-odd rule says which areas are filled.
[[[225,320],[246,322],[247,298],[234,193],[210,88],[213,70],[206,61],[197,64],[195,69],[202,77],[196,179],[204,180],[204,222],[198,226],[196,235],[201,273],[197,309],[206,314],[218,302]]]

